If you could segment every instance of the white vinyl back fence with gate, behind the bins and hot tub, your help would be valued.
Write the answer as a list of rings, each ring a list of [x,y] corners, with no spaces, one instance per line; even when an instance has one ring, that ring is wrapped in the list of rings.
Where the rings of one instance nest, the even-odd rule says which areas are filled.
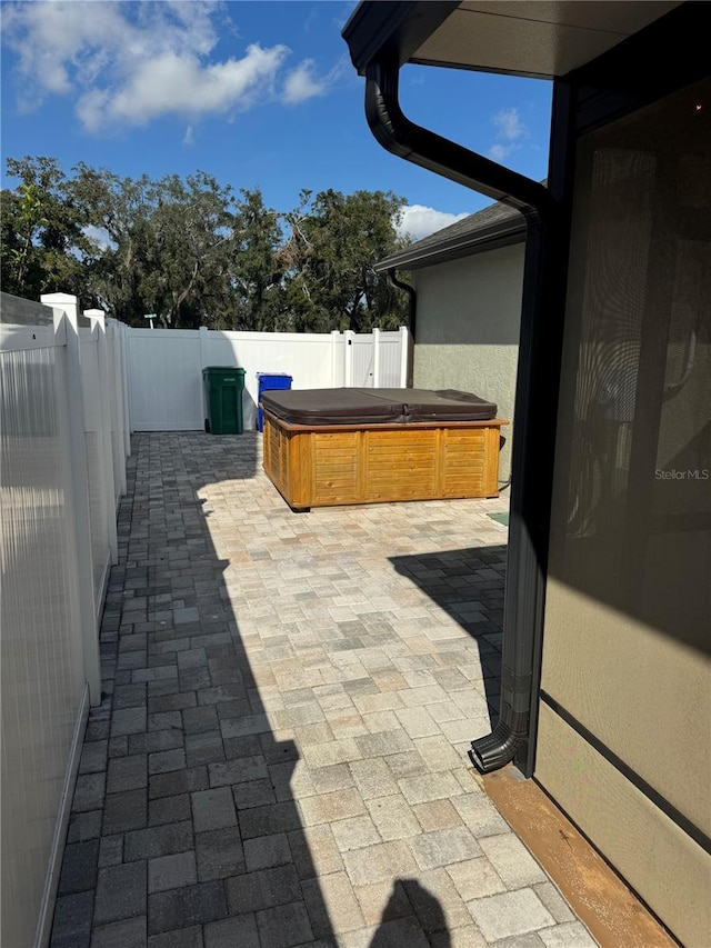
[[[208,366],[244,369],[246,430],[257,422],[258,372],[284,372],[294,389],[404,388],[409,345],[404,327],[363,336],[129,329],[131,430],[202,430],[202,369]]]

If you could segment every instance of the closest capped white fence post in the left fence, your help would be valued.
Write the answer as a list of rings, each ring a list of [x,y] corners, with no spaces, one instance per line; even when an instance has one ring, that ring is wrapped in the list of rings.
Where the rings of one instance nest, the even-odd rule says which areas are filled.
[[[84,679],[89,686],[89,700],[101,703],[101,666],[99,636],[93,598],[93,561],[91,556],[91,525],[89,515],[89,485],[87,476],[87,438],[84,407],[81,390],[81,342],[77,297],[68,293],[43,293],[41,302],[54,310],[54,328],[64,323],[67,331],[67,393],[69,423],[69,459],[71,476],[71,513],[77,558],[77,586],[79,621],[81,623]]]

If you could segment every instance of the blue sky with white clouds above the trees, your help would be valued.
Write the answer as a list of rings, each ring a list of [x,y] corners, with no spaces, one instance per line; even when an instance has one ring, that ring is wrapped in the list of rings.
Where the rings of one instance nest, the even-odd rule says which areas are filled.
[[[341,38],[354,6],[3,2],[3,171],[26,154],[67,172],[78,161],[132,178],[202,170],[260,187],[279,211],[301,188],[392,190],[415,239],[484,207],[372,138]],[[540,80],[411,66],[401,77],[413,121],[535,179],[547,173],[550,96]]]

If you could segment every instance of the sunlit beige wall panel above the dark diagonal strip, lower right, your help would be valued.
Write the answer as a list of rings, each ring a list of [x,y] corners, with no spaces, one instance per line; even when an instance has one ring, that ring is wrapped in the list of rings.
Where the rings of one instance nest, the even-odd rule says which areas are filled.
[[[689,576],[694,558],[708,561],[709,540],[702,533],[667,535],[664,541],[672,557],[687,561]],[[662,589],[668,581],[655,572],[650,587]],[[693,613],[702,612],[707,596],[692,598],[677,599],[678,613],[683,610],[684,622],[704,621]],[[543,657],[541,688],[711,836],[708,658],[668,628],[654,628],[553,576],[547,589]],[[539,740],[541,747],[544,739]]]

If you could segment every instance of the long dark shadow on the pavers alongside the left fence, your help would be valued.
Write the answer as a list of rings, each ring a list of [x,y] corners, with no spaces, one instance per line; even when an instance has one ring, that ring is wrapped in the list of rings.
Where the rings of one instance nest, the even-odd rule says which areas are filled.
[[[336,944],[199,497],[257,437],[134,436],[51,948]]]

